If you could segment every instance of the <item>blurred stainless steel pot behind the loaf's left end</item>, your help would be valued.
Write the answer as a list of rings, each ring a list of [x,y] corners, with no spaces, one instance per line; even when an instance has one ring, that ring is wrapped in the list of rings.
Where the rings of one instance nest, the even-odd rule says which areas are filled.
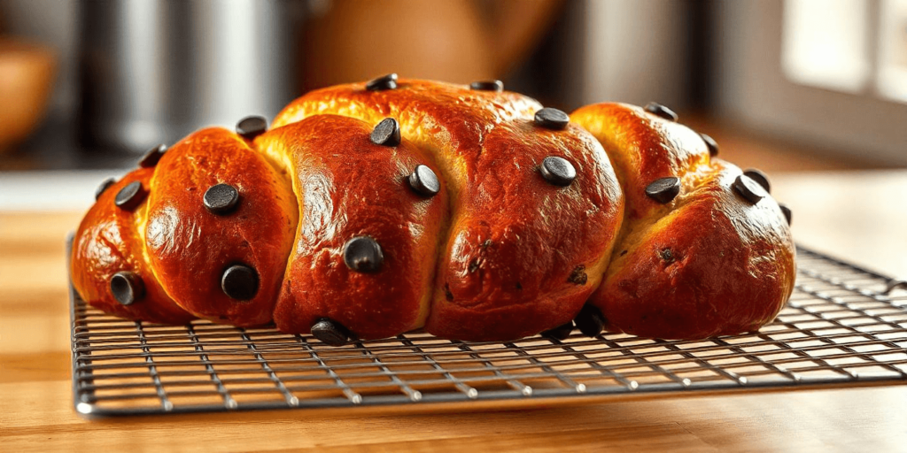
[[[84,0],[83,143],[141,152],[207,125],[273,117],[295,82],[284,0]]]

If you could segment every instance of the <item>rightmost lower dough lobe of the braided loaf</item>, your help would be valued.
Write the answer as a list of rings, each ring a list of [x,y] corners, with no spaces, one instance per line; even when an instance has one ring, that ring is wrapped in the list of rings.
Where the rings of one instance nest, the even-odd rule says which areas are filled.
[[[697,339],[775,319],[794,289],[795,248],[774,200],[754,206],[733,191],[740,174],[716,165],[668,216],[619,246],[627,255],[590,299],[611,330]]]

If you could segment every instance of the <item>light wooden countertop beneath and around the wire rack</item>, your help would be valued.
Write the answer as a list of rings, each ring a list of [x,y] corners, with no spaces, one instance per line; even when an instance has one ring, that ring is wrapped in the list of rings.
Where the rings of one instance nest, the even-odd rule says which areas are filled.
[[[907,171],[772,182],[798,241],[907,276]],[[904,385],[89,421],[72,407],[63,260],[80,217],[0,212],[0,450],[907,450]]]

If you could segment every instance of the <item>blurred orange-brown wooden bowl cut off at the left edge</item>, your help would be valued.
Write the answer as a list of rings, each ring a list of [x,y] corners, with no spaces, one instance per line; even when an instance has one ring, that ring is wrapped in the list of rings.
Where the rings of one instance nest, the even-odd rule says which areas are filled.
[[[44,118],[55,67],[50,49],[0,38],[0,152],[28,137]]]

